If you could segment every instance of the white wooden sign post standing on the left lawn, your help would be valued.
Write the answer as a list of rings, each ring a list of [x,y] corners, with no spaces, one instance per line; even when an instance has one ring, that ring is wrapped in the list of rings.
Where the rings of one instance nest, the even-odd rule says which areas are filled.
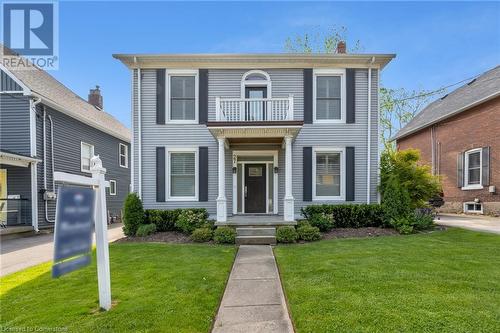
[[[102,167],[99,156],[91,159],[92,178],[97,179],[96,206],[95,206],[95,238],[97,255],[97,284],[99,289],[99,306],[102,309],[111,309],[111,278],[109,270],[108,247],[108,215],[106,210],[106,185],[104,179],[106,169]]]

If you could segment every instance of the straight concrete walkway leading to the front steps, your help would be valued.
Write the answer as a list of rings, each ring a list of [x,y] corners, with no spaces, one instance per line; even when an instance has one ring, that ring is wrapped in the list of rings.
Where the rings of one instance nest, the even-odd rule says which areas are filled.
[[[293,332],[270,246],[240,246],[212,332]]]

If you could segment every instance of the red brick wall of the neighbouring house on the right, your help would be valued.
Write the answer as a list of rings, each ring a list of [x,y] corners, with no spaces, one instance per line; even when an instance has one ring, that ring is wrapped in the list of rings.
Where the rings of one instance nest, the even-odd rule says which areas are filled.
[[[462,203],[478,198],[486,214],[500,214],[500,97],[478,105],[434,126],[436,161],[434,168],[442,175],[445,211],[462,211]],[[416,148],[422,163],[432,164],[431,128],[423,129],[397,141],[398,149]],[[473,148],[490,146],[490,185],[496,194],[457,187],[457,155]]]

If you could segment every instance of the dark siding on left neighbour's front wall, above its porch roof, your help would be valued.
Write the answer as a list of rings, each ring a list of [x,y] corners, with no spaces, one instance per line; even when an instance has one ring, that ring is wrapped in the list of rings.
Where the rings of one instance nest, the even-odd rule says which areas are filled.
[[[30,102],[21,94],[0,94],[0,150],[30,156]]]

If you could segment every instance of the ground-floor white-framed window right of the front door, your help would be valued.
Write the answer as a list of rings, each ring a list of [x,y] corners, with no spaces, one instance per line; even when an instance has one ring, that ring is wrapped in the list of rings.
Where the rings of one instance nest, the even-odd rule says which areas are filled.
[[[315,200],[341,200],[344,196],[343,149],[315,149],[313,193]]]

